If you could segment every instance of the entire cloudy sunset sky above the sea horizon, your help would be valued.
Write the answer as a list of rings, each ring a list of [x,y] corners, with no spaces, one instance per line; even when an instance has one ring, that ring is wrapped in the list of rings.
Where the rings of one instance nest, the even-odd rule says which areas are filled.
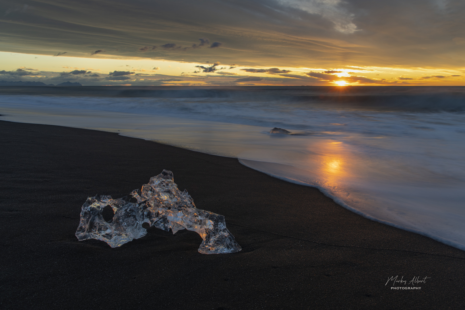
[[[4,0],[0,80],[464,85],[463,0]]]

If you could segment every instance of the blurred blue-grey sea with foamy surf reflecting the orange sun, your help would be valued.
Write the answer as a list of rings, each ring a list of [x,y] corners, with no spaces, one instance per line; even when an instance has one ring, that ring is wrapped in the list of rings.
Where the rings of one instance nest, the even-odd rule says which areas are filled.
[[[0,114],[239,158],[465,250],[465,87],[2,87]]]

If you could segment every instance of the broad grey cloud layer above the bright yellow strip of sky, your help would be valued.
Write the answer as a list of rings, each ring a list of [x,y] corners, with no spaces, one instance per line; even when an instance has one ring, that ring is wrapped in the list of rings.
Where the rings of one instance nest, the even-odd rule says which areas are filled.
[[[1,8],[5,52],[250,68],[455,68],[465,60],[459,0],[4,0]]]

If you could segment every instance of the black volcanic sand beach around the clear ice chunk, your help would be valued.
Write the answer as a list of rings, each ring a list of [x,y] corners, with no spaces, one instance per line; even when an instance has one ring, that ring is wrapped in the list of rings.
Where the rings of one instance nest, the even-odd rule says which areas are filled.
[[[6,121],[0,132],[3,309],[464,309],[464,251],[317,189],[110,132]],[[200,254],[186,230],[150,228],[117,249],[77,241],[88,196],[120,198],[163,169],[226,217],[241,252]],[[396,275],[430,279],[391,290]]]

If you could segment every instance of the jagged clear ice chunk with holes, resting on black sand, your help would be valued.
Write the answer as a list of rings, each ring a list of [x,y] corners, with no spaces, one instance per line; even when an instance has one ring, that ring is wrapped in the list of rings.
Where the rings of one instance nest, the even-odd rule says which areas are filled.
[[[225,217],[197,209],[187,191],[179,191],[171,171],[163,170],[158,176],[150,178],[142,190],[134,190],[131,196],[137,199],[137,203],[130,202],[130,196],[112,199],[111,196],[97,195],[87,198],[82,205],[76,231],[78,240],[98,239],[115,248],[145,236],[147,231],[142,223],[148,223],[164,231],[171,228],[173,234],[183,229],[197,232],[203,239],[200,253],[235,253],[242,250],[226,228]],[[111,222],[106,222],[102,216],[107,205],[114,212]]]

